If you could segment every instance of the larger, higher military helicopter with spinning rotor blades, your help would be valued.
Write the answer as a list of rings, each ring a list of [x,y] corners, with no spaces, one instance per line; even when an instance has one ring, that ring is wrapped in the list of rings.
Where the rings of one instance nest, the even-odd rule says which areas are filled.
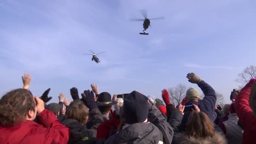
[[[130,21],[144,21],[143,22],[143,28],[144,28],[143,33],[139,33],[139,34],[143,34],[143,35],[148,35],[148,33],[146,33],[146,30],[150,26],[150,20],[164,20],[165,19],[164,16],[155,17],[153,19],[148,19],[147,18],[147,10],[141,10],[141,14],[143,15],[144,19],[130,19]]]

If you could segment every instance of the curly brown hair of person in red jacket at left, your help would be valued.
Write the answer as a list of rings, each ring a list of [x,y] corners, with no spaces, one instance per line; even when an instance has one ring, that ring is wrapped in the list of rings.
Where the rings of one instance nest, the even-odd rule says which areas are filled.
[[[35,111],[36,102],[27,89],[14,89],[0,99],[0,125],[15,125],[26,119],[28,111]]]

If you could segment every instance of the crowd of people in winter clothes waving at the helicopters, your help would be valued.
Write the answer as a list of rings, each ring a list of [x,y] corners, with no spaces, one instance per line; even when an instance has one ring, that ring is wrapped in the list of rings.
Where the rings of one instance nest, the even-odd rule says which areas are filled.
[[[165,106],[133,91],[123,98],[99,93],[91,84],[73,101],[60,93],[59,103],[49,103],[50,88],[41,97],[29,90],[31,76],[22,76],[23,88],[4,94],[0,100],[0,143],[255,143],[256,79],[242,89],[233,89],[230,104],[216,105],[214,89],[199,76],[187,79],[201,88],[187,90],[179,105],[162,91]]]

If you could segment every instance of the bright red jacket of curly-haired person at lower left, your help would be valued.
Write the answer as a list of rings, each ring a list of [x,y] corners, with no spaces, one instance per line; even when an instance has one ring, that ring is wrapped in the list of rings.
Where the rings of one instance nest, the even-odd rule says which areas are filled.
[[[69,129],[60,124],[53,112],[44,110],[39,115],[40,125],[24,121],[14,127],[0,127],[0,143],[67,143]]]

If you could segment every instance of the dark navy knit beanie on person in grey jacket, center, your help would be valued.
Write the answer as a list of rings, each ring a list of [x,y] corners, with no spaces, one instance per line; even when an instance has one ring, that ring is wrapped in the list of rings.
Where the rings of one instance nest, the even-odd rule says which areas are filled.
[[[128,94],[124,100],[124,117],[127,124],[143,123],[148,118],[148,98],[136,91]]]

